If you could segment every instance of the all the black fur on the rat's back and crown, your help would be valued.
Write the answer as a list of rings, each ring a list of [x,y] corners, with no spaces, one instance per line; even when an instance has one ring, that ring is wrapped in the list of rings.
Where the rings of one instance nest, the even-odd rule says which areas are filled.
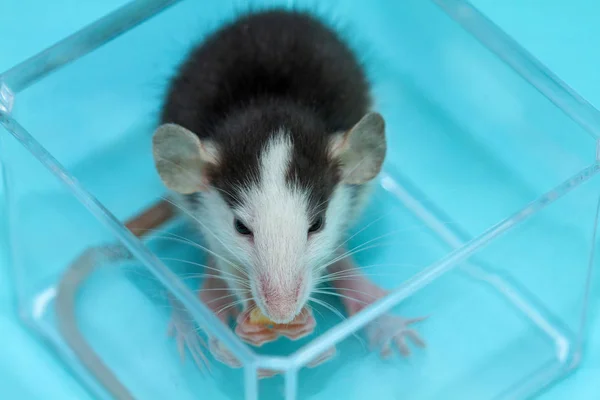
[[[240,185],[258,177],[258,156],[279,129],[291,133],[288,177],[326,204],[339,181],[327,155],[330,135],[346,131],[370,107],[360,63],[315,17],[271,10],[245,15],[192,51],[174,77],[162,113],[220,149],[211,183],[236,204]],[[318,210],[314,210],[318,212]]]

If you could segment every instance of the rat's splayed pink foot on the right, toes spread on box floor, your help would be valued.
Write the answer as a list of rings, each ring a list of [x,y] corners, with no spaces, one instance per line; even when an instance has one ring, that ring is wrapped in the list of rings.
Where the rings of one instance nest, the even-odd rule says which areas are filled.
[[[410,325],[421,322],[427,317],[405,319],[395,315],[384,315],[367,326],[367,336],[372,349],[379,349],[383,358],[392,355],[396,347],[400,353],[408,357],[410,348],[407,339],[410,339],[418,347],[424,348],[425,342]]]

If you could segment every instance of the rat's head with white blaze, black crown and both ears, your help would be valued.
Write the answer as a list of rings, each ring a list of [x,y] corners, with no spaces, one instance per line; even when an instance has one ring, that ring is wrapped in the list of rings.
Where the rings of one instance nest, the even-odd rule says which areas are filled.
[[[308,301],[385,157],[377,113],[346,132],[324,129],[246,118],[210,137],[165,124],[153,138],[159,175],[188,200],[222,277],[277,323]]]

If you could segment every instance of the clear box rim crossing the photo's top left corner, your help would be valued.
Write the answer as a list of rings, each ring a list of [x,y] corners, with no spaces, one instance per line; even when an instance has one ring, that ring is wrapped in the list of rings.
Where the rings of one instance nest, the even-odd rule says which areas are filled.
[[[134,0],[0,74],[18,93],[181,0]]]

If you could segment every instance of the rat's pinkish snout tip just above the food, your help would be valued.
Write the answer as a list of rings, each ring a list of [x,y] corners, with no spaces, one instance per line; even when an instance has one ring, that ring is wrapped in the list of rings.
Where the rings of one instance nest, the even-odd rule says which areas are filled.
[[[302,308],[299,302],[303,285],[302,279],[295,279],[290,284],[261,279],[259,293],[265,315],[278,324],[292,321]]]

